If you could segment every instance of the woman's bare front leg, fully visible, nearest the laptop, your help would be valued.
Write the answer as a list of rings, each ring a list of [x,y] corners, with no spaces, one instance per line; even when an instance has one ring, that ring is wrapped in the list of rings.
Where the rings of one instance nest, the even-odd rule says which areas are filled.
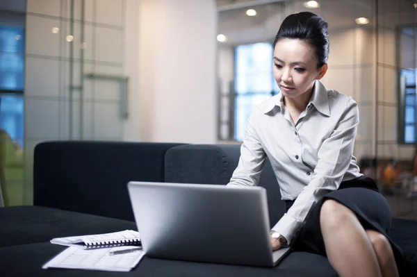
[[[356,215],[341,203],[326,200],[320,228],[329,262],[341,277],[382,277],[377,255]]]

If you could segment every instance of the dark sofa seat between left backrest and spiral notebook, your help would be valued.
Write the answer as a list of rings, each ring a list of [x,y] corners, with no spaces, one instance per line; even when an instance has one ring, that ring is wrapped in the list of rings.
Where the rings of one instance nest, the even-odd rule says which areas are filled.
[[[37,206],[0,208],[0,222],[0,247],[49,242],[54,237],[137,230],[131,221]],[[14,258],[19,260],[19,256]]]

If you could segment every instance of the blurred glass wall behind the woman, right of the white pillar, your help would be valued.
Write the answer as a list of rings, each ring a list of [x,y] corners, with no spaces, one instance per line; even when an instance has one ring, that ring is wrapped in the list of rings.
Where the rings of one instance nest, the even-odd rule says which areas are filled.
[[[238,101],[240,92],[236,85],[231,85],[238,84],[237,49],[271,43],[286,16],[314,12],[329,24],[329,70],[322,82],[330,89],[352,96],[359,105],[354,156],[361,170],[377,180],[395,215],[417,216],[417,205],[413,204],[416,201],[411,200],[417,194],[414,183],[417,8],[407,0],[320,0],[316,4],[313,7],[307,1],[293,0],[259,6],[245,6],[243,2],[219,6],[219,33],[224,35],[218,42],[219,140],[239,143],[248,107],[263,100]],[[247,59],[263,60],[263,54],[252,51],[252,55]],[[265,73],[264,78],[269,78],[272,62],[264,67],[256,68]],[[252,90],[246,93],[254,93],[259,85],[250,78],[247,81],[253,83],[247,84]],[[269,82],[265,84],[270,94],[274,94]]]

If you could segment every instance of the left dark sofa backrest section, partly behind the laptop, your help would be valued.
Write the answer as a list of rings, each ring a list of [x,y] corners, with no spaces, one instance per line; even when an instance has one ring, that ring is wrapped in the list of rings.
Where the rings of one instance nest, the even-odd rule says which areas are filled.
[[[174,143],[43,142],[35,147],[33,203],[134,221],[127,183],[163,182]]]

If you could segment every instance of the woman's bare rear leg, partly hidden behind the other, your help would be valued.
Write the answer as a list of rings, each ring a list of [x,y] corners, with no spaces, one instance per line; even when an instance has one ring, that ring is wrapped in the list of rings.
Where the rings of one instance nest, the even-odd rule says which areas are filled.
[[[389,240],[376,230],[366,230],[371,244],[377,254],[379,269],[383,277],[398,277],[397,264],[395,263],[393,249]]]

